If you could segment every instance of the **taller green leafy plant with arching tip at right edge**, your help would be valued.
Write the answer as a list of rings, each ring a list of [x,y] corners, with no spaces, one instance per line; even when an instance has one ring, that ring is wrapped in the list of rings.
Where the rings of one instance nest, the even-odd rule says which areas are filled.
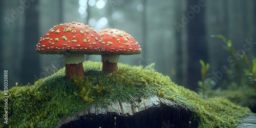
[[[228,93],[229,96],[222,94],[220,91],[215,92],[216,95],[223,95],[229,98],[231,101],[246,105],[251,109],[256,110],[256,102],[249,102],[249,99],[255,98],[256,93],[256,58],[251,62],[248,60],[248,56],[245,51],[242,50],[242,55],[238,56],[238,51],[235,51],[232,46],[231,40],[226,40],[223,35],[212,35],[212,37],[221,38],[230,53],[230,69],[227,73],[227,80],[223,80],[222,89],[228,89],[231,91],[239,91],[243,95],[237,95],[236,93]],[[242,61],[242,59],[244,61]],[[224,91],[224,90],[222,90]],[[241,97],[238,97],[241,96]],[[232,98],[236,97],[236,98]]]

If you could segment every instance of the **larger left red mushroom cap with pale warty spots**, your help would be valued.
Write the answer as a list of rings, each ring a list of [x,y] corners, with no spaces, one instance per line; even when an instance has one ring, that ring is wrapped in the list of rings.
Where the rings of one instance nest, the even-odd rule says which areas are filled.
[[[76,22],[54,26],[36,45],[39,54],[63,54],[59,51],[65,50],[78,54],[100,54],[104,45],[93,28]]]

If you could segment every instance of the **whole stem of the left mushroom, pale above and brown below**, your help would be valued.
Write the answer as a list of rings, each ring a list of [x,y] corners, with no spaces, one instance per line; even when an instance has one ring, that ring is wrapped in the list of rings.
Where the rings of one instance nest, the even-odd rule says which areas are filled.
[[[74,77],[86,77],[83,71],[82,62],[84,61],[83,54],[64,55],[64,63],[66,63],[66,77],[71,79]]]

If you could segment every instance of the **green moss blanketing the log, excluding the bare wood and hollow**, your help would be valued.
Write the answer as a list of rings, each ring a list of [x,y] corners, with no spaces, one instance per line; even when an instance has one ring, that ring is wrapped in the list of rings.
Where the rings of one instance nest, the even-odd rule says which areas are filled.
[[[160,95],[185,105],[194,112],[191,125],[199,127],[234,127],[250,110],[227,99],[203,99],[196,92],[178,86],[168,76],[141,67],[118,63],[118,72],[101,72],[101,62],[83,62],[86,78],[65,77],[65,68],[39,79],[33,86],[14,87],[8,91],[8,123],[11,127],[54,127],[89,105],[104,106],[121,100],[131,102]],[[1,96],[4,92],[0,92]],[[0,97],[4,108],[4,98]],[[4,115],[4,110],[0,111]],[[3,118],[1,118],[3,120]],[[189,123],[189,122],[188,122]],[[1,124],[6,127],[6,124]],[[0,127],[1,127],[0,125]]]

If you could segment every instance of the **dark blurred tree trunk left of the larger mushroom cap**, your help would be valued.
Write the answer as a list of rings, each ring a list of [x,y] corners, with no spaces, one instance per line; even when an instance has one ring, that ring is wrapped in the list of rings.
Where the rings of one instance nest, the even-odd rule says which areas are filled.
[[[20,78],[23,83],[33,83],[33,76],[35,71],[39,71],[39,58],[35,52],[35,44],[38,42],[38,1],[31,2],[30,7],[25,10],[25,38],[24,38],[24,51],[23,59],[20,65],[22,72]]]

